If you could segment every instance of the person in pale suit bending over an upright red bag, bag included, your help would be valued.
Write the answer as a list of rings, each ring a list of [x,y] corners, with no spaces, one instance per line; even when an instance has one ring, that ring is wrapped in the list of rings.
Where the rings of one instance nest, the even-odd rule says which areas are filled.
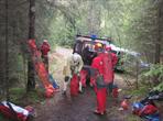
[[[72,54],[67,58],[66,66],[64,67],[64,89],[63,94],[66,94],[67,85],[70,81],[70,95],[76,96],[79,92],[82,92],[82,81],[80,81],[80,70],[84,66],[84,62],[82,59],[82,56],[77,53]]]

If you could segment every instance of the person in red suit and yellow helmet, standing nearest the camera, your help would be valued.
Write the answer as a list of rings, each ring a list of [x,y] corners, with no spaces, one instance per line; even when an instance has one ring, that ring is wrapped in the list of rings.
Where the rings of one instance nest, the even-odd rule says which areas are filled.
[[[95,45],[97,57],[93,59],[91,67],[95,72],[94,79],[90,80],[94,86],[97,98],[97,108],[94,111],[97,114],[105,114],[107,101],[107,87],[112,81],[111,67],[109,65],[109,56],[105,53],[101,43]]]

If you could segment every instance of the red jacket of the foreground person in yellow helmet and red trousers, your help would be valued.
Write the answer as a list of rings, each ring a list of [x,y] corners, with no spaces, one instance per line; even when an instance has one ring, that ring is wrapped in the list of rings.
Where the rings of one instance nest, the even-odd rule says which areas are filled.
[[[106,84],[113,81],[113,64],[108,53],[101,53],[94,58],[91,67],[97,69],[104,76]]]

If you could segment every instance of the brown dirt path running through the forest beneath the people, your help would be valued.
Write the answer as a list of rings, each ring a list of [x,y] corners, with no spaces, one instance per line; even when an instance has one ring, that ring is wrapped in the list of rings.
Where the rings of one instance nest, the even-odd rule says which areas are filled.
[[[51,64],[53,65],[55,61],[55,66],[52,66],[51,70],[57,79],[61,90],[64,78],[62,69],[69,53],[72,50],[56,47],[56,53],[51,54]],[[116,75],[116,81],[126,88],[121,75]],[[69,94],[63,96],[59,91],[55,94],[54,98],[46,99],[36,106],[37,117],[34,121],[130,121],[126,119],[126,112],[118,111],[119,103],[119,99],[112,99],[108,96],[107,113],[99,117],[93,113],[96,107],[96,96],[90,87],[87,87],[83,95],[75,98],[72,98]]]

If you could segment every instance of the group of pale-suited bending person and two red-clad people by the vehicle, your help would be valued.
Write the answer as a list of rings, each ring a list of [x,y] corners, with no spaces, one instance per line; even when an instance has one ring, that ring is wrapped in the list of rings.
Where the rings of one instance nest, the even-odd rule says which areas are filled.
[[[97,97],[97,108],[95,113],[105,114],[107,90],[113,91],[113,68],[117,64],[116,54],[111,53],[111,47],[104,47],[101,43],[95,45],[96,57],[90,65],[90,85],[94,87]],[[70,82],[70,95],[76,96],[83,92],[83,82],[80,72],[83,72],[83,58],[79,54],[74,53],[67,58],[64,68],[65,81],[63,94],[66,94],[67,84]],[[86,76],[85,76],[86,77]]]

